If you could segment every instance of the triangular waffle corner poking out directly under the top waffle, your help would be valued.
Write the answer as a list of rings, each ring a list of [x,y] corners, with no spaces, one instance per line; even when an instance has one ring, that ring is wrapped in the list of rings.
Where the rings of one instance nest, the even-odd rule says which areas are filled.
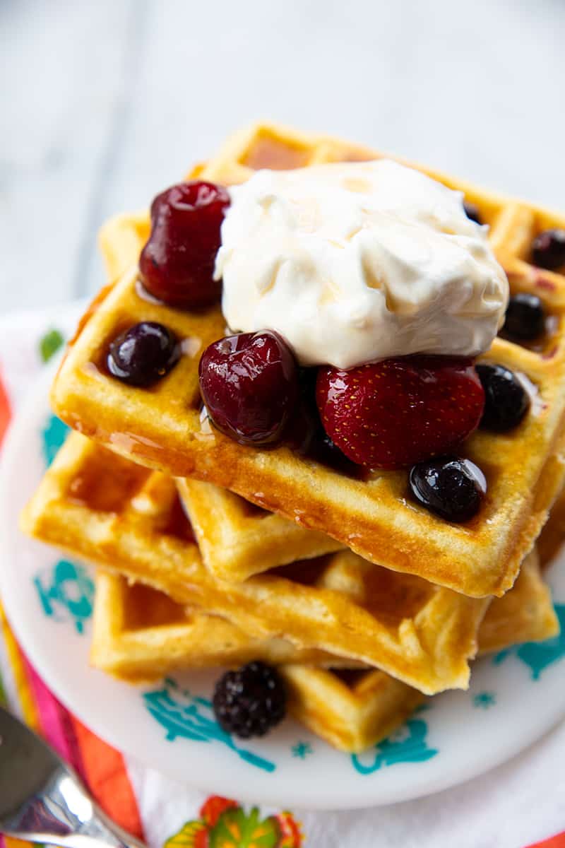
[[[202,560],[220,580],[236,583],[296,560],[330,554],[343,545],[251,504],[226,488],[180,477]]]

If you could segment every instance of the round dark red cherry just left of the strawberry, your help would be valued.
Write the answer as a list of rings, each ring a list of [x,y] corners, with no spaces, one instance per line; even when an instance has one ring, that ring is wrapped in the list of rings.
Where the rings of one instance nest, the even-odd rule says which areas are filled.
[[[240,444],[280,441],[298,397],[296,361],[275,332],[226,336],[202,354],[200,391],[219,430]]]

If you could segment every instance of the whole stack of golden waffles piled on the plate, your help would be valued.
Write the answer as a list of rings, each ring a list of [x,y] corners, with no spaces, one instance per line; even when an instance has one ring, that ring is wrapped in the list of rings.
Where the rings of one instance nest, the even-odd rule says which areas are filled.
[[[190,176],[230,186],[259,168],[379,156],[262,125]],[[140,681],[260,659],[279,667],[299,721],[359,752],[425,696],[466,688],[477,652],[556,635],[536,541],[565,479],[565,278],[527,257],[537,232],[563,222],[426,173],[477,204],[512,293],[537,294],[552,319],[539,346],[496,338],[485,357],[521,372],[534,398],[516,430],[468,439],[489,488],[461,525],[407,499],[406,471],[357,479],[215,430],[202,416],[198,362],[224,335],[219,307],[179,310],[141,293],[147,214],[102,228],[109,284],[53,386],[75,432],[23,516],[27,533],[97,566],[95,667]],[[152,388],[103,367],[109,341],[138,321],[183,339],[180,361]],[[557,520],[548,527],[540,550],[553,552]]]

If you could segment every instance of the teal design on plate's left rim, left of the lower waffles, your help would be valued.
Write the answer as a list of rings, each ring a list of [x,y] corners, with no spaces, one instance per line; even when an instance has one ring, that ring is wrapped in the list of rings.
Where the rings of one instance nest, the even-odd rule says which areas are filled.
[[[84,633],[92,615],[94,583],[83,566],[59,560],[53,568],[33,578],[42,610],[54,622],[73,622]]]

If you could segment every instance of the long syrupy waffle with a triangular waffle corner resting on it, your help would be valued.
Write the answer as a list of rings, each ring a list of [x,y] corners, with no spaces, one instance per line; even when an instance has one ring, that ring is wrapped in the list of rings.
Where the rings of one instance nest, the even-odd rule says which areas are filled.
[[[253,637],[285,637],[379,667],[432,695],[468,685],[489,600],[467,598],[341,551],[245,583],[203,566],[171,478],[72,433],[25,509],[43,541],[224,616]]]

